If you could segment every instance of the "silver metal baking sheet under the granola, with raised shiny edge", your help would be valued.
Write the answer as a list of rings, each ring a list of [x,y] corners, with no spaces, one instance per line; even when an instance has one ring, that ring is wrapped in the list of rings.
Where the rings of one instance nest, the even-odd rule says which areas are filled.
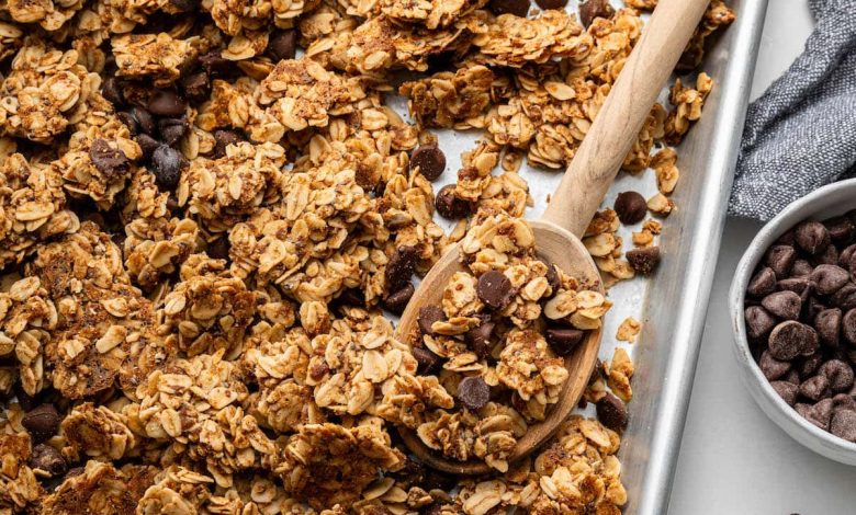
[[[621,7],[620,0],[613,3]],[[701,121],[678,148],[680,180],[673,195],[677,210],[664,220],[660,239],[663,262],[654,277],[619,283],[609,293],[615,306],[607,316],[600,358],[611,359],[612,351],[620,344],[635,364],[634,396],[629,403],[630,424],[619,454],[629,495],[628,514],[666,513],[680,448],[767,7],[767,0],[732,0],[729,3],[735,9],[737,19],[718,35],[701,67],[716,80],[716,85]],[[575,11],[576,5],[572,0],[568,10]],[[391,100],[396,111],[406,111],[401,99]],[[460,153],[473,148],[481,133],[441,130],[437,135],[448,159],[447,172],[436,184],[439,188],[455,180]],[[520,175],[529,183],[534,198],[527,218],[538,218],[548,195],[559,184],[561,173],[525,163]],[[649,198],[656,192],[653,172],[639,176],[619,174],[605,205],[611,206],[615,196],[628,190],[639,191]],[[448,220],[437,217],[437,221],[451,230],[452,224]],[[632,230],[639,230],[639,227],[621,228],[626,250],[632,248]],[[616,331],[629,316],[643,322],[642,333],[633,344],[619,343]],[[594,411],[589,407],[584,413],[592,415]]]

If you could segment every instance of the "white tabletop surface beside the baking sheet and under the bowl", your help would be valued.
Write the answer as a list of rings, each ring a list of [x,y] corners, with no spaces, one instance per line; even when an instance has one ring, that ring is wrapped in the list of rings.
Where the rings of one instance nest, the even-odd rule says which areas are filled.
[[[755,99],[802,52],[807,0],[769,0],[752,89]],[[717,265],[671,515],[856,514],[856,468],[792,440],[743,388],[731,351],[728,289],[761,226],[729,219]]]

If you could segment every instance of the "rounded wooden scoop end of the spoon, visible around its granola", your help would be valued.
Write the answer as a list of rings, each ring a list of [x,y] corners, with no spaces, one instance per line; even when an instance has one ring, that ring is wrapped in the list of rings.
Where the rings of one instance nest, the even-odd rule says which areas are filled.
[[[576,277],[588,289],[604,293],[600,274],[595,267],[592,256],[583,243],[574,234],[553,224],[540,220],[529,220],[538,242],[538,255],[562,268],[566,274]],[[418,332],[417,317],[419,307],[439,306],[443,289],[455,272],[464,271],[460,262],[460,245],[455,244],[443,254],[433,266],[436,274],[430,274],[414,295],[407,309],[402,314],[398,324],[398,336],[405,342],[408,335]],[[592,377],[597,363],[597,352],[600,347],[602,330],[586,332],[586,337],[565,357],[565,368],[571,373],[559,394],[559,402],[548,407],[547,419],[529,426],[526,435],[517,442],[508,462],[514,462],[528,455],[531,449],[543,445],[559,430],[562,421],[574,409]],[[441,456],[425,445],[419,436],[406,428],[399,428],[405,445],[426,465],[443,472],[457,474],[488,473],[491,467],[482,460],[455,461]]]

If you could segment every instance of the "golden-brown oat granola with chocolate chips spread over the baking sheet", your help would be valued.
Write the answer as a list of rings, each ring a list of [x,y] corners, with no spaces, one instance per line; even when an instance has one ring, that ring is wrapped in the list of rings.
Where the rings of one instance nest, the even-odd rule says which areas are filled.
[[[534,255],[522,163],[573,159],[655,3],[0,0],[0,513],[620,513],[624,347],[596,419],[508,459],[610,306]],[[713,0],[682,66],[732,20]],[[602,286],[655,268],[713,87],[652,108],[623,168],[658,193],[583,238]],[[399,430],[495,471],[435,472]]]

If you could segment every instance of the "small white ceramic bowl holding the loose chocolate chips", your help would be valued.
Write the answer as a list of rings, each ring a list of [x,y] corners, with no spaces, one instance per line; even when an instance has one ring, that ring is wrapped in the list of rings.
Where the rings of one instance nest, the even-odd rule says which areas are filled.
[[[746,339],[743,301],[746,285],[767,248],[778,237],[806,219],[823,220],[856,208],[856,179],[837,182],[793,202],[767,222],[750,244],[737,264],[731,283],[729,304],[734,329],[734,354],[741,368],[741,378],[764,413],[793,439],[835,461],[856,465],[856,444],[814,426],[789,407],[764,377],[755,363]]]

